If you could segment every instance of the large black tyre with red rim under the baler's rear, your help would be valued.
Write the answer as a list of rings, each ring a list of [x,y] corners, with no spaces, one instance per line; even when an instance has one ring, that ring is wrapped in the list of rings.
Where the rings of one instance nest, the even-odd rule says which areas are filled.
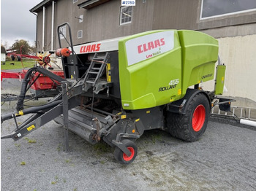
[[[186,114],[167,112],[167,131],[184,141],[197,141],[206,131],[210,104],[203,93],[198,93],[190,101]]]

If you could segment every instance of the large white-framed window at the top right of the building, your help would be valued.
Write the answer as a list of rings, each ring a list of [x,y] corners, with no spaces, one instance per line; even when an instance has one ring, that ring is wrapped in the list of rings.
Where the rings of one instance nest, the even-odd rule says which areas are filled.
[[[200,19],[256,10],[255,0],[202,0]]]

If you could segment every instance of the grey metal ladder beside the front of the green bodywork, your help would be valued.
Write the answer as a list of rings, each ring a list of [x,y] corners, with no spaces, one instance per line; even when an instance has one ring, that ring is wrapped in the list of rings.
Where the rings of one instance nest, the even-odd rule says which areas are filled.
[[[86,82],[87,84],[90,84],[92,87],[95,87],[97,81],[102,76],[108,58],[109,52],[106,52],[104,57],[99,57],[98,53],[95,53],[94,58],[92,58],[91,60],[89,69],[86,72],[86,76],[83,79],[83,82]]]

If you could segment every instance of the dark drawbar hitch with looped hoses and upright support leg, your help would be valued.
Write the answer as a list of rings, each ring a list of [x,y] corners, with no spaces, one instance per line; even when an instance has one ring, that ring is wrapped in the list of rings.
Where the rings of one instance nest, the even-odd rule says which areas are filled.
[[[42,106],[34,106],[28,109],[23,109],[23,102],[24,102],[24,99],[26,98],[26,91],[29,89],[31,84],[34,83],[32,82],[31,84],[29,84],[31,75],[34,75],[36,72],[39,72],[40,74],[44,74],[45,76],[48,76],[51,79],[56,80],[57,82],[60,82],[62,87],[62,93],[59,95],[56,95],[56,97],[53,98],[52,101],[50,101],[48,104],[45,104]],[[81,88],[77,87],[78,93],[76,93],[75,95],[69,94],[68,84],[69,82],[65,81],[63,78],[41,67],[34,67],[32,69],[29,69],[26,76],[24,77],[24,81],[20,90],[20,95],[18,96],[18,103],[16,107],[17,112],[12,112],[9,114],[1,114],[1,122],[4,122],[5,120],[9,120],[12,118],[15,120],[15,126],[16,126],[15,130],[13,133],[9,135],[2,136],[1,139],[12,138],[14,139],[14,141],[18,141],[23,136],[26,136],[27,134],[31,133],[37,128],[40,128],[42,125],[45,125],[45,123],[49,122],[50,120],[53,120],[59,115],[63,114],[64,115],[65,147],[66,147],[66,151],[68,151],[69,149],[68,127],[67,127],[68,126],[68,110],[80,104],[78,95],[80,93],[83,93]],[[17,117],[23,116],[25,114],[31,114],[31,113],[34,113],[34,115],[29,117],[29,119],[23,122],[21,125],[18,125],[18,122],[16,120]]]

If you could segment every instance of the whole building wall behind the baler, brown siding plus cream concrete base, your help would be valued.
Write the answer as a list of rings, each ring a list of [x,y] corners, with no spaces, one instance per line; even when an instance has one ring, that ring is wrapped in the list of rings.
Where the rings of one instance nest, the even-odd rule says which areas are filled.
[[[59,0],[55,4],[54,49],[59,48],[57,26],[68,22],[74,44],[137,34],[154,29],[192,29],[219,39],[219,55],[227,64],[225,95],[256,101],[256,11],[200,20],[201,0],[142,0],[132,7],[132,23],[119,24],[121,1],[112,0],[92,9],[79,9],[78,3]],[[83,15],[83,23],[78,18]],[[78,39],[78,31],[83,38]],[[45,10],[45,47],[51,43],[51,5]],[[68,33],[67,33],[68,35]],[[63,47],[69,45],[61,40]],[[42,10],[37,17],[37,50],[42,50]],[[211,85],[210,85],[211,86]],[[208,85],[206,84],[206,87]],[[212,87],[211,87],[212,90]]]

